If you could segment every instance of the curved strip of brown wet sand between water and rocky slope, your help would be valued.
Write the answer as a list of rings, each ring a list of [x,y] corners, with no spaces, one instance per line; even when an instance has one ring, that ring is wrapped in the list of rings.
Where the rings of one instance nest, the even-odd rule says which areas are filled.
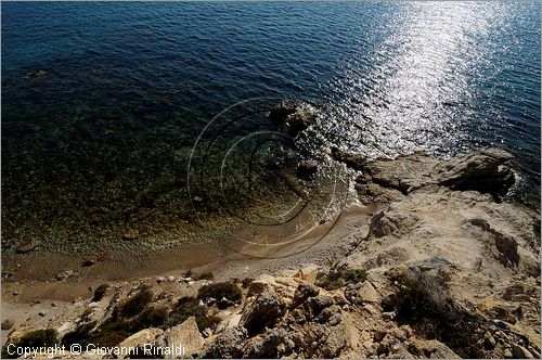
[[[353,233],[350,231],[352,227],[369,229],[370,215],[375,210],[376,207],[352,204],[334,220],[313,223],[306,231],[282,237],[279,244],[237,239],[228,244],[191,244],[140,257],[122,258],[122,254],[112,253],[111,258],[90,267],[81,267],[81,257],[41,252],[18,254],[4,261],[4,271],[15,270],[14,277],[3,282],[3,299],[15,303],[36,299],[69,301],[90,296],[89,286],[95,287],[103,282],[179,275],[189,269],[211,271],[216,279],[244,279],[310,263],[326,265],[345,250],[343,240]],[[64,281],[55,281],[56,274],[63,271],[73,271],[73,274]],[[14,296],[13,291],[18,295]]]

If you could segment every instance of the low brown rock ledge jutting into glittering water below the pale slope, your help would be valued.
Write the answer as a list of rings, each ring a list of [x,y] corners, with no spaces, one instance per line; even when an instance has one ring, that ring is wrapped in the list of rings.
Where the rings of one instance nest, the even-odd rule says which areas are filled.
[[[496,198],[514,183],[512,154],[500,149],[481,149],[439,160],[425,153],[395,159],[367,160],[363,156],[333,150],[332,156],[362,171],[357,189],[364,203],[400,201],[422,188],[446,187],[459,191],[489,193]]]

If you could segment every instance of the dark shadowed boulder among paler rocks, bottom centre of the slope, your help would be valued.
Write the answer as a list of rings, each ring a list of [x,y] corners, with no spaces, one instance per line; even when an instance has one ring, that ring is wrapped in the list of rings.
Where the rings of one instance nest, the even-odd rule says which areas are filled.
[[[284,313],[284,304],[272,291],[260,293],[253,306],[243,313],[241,324],[249,334],[256,334],[266,326],[271,326]]]

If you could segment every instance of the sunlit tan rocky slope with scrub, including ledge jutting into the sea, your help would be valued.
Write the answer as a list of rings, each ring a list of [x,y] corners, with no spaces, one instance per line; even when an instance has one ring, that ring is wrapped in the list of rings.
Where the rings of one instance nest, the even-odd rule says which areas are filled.
[[[104,282],[70,301],[17,301],[4,283],[3,357],[9,344],[131,349],[64,358],[141,358],[144,344],[158,358],[541,357],[540,213],[504,200],[511,154],[331,155],[360,171],[357,206],[372,209],[320,244],[339,244],[333,256]],[[160,352],[176,344],[183,355]]]

